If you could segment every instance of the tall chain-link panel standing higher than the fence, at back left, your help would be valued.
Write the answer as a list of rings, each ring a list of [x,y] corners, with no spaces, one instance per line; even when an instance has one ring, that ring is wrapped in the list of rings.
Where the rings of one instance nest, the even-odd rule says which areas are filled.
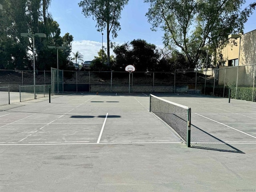
[[[51,68],[52,94],[63,93],[63,70]]]

